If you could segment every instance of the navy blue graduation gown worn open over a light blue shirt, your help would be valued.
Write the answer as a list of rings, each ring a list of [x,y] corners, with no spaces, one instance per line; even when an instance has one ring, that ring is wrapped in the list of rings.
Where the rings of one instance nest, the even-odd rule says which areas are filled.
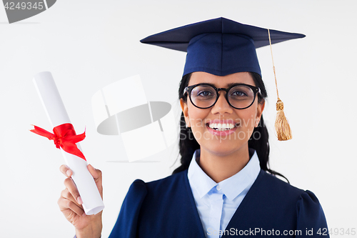
[[[284,231],[291,234],[284,235]],[[126,194],[109,238],[205,238],[205,232],[185,170],[154,182],[136,179]],[[231,218],[222,238],[244,234],[254,237],[328,237],[325,215],[316,196],[263,170]]]

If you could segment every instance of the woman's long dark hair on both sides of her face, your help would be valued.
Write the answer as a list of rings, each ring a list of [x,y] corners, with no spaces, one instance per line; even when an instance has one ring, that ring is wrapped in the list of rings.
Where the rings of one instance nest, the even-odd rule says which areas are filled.
[[[249,72],[253,77],[254,83],[258,88],[261,89],[261,95],[258,94],[258,103],[262,103],[267,94],[266,87],[264,86],[263,80],[261,79],[260,74]],[[186,74],[182,77],[180,86],[178,88],[178,98],[183,99],[183,101],[187,102],[187,94],[183,96],[183,89],[188,86],[188,82],[190,81],[191,74]],[[176,174],[185,169],[188,169],[190,165],[193,153],[196,149],[200,149],[200,145],[193,137],[193,133],[191,131],[191,127],[186,127],[185,117],[183,116],[183,112],[181,112],[180,118],[180,140],[178,142],[179,152],[181,154],[181,166],[176,168],[172,174]],[[258,139],[253,137],[254,134],[258,133]],[[261,121],[258,124],[258,127],[255,127],[253,130],[253,134],[248,141],[248,147],[255,149],[256,154],[258,154],[259,162],[261,164],[261,169],[266,172],[269,172],[273,175],[279,175],[286,179],[282,174],[273,171],[268,168],[269,165],[269,142],[268,142],[268,129],[266,129],[266,125],[264,124],[263,116],[261,116]],[[288,179],[286,179],[288,181]]]

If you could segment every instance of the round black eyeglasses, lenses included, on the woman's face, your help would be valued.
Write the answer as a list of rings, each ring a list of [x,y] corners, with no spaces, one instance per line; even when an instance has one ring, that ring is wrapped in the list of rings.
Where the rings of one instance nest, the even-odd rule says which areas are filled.
[[[218,101],[218,92],[226,91],[226,100],[235,109],[246,109],[251,106],[256,99],[256,94],[261,94],[261,89],[248,84],[233,84],[232,86],[217,89],[211,84],[195,84],[186,86],[183,95],[188,93],[193,106],[207,109]]]

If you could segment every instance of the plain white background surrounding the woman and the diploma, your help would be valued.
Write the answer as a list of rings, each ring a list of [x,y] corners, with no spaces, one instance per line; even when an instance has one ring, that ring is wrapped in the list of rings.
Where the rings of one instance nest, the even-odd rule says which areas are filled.
[[[61,152],[28,131],[30,124],[51,129],[34,74],[52,72],[77,133],[86,128],[81,147],[104,174],[102,237],[108,237],[131,182],[171,174],[177,148],[148,158],[155,163],[113,162],[127,160],[126,152],[120,137],[96,133],[91,96],[140,74],[147,99],[168,101],[180,114],[177,91],[186,55],[139,40],[220,16],[306,34],[273,46],[279,92],[293,129],[288,142],[273,134],[270,49],[258,49],[269,96],[264,116],[271,132],[271,168],[316,194],[329,227],[357,229],[356,6],[356,1],[311,0],[59,0],[17,24],[6,23],[0,7],[0,237],[74,236],[56,204],[64,189]]]

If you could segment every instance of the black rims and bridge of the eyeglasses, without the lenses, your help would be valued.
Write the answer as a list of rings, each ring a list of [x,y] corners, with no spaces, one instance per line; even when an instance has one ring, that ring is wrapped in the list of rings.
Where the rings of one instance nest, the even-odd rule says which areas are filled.
[[[214,90],[216,90],[216,94],[217,94],[217,97],[216,97],[216,101],[214,101],[214,103],[211,105],[211,106],[208,106],[208,107],[199,107],[199,106],[196,106],[192,99],[191,99],[191,91],[194,87],[196,86],[199,86],[199,85],[206,85],[206,86],[211,86]],[[199,109],[208,109],[212,106],[214,106],[214,104],[216,104],[216,102],[218,101],[218,97],[219,97],[219,91],[223,90],[223,91],[226,91],[226,101],[228,102],[229,106],[232,106],[233,108],[235,109],[239,109],[239,110],[242,110],[242,109],[247,109],[249,106],[246,106],[244,108],[237,108],[235,106],[233,106],[229,100],[228,100],[228,91],[231,90],[234,86],[248,86],[248,88],[252,89],[253,90],[253,93],[254,93],[254,98],[253,98],[253,101],[251,102],[251,104],[249,106],[251,106],[254,101],[256,101],[256,94],[260,94],[261,95],[261,89],[258,88],[257,86],[252,86],[252,85],[249,85],[249,84],[233,84],[231,85],[230,87],[228,88],[216,88],[215,86],[213,86],[212,84],[207,84],[207,83],[201,83],[201,84],[194,84],[194,85],[191,85],[191,86],[186,86],[185,89],[183,89],[183,96],[185,96],[186,93],[188,93],[188,97],[190,98],[190,101],[191,103],[193,104],[193,106],[196,106],[197,108]]]

